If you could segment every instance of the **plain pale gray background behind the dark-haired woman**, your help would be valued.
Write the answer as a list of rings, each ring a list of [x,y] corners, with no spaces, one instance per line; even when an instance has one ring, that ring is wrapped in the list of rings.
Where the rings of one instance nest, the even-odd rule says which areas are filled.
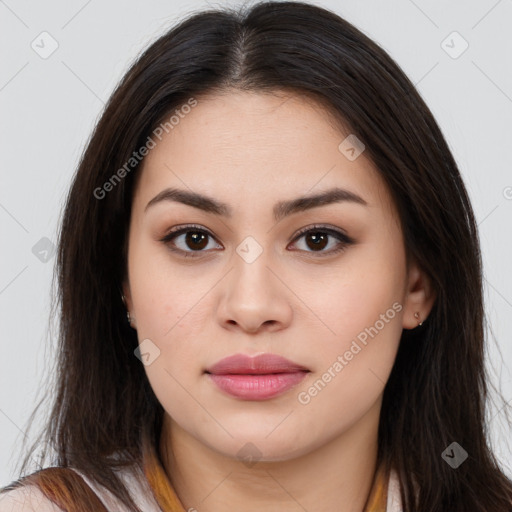
[[[143,48],[184,14],[226,3],[0,0],[0,485],[15,476],[26,421],[53,360],[52,346],[45,349],[51,243],[92,127]],[[512,403],[512,0],[314,3],[390,53],[417,84],[453,150],[481,234],[493,336],[489,369]],[[51,36],[40,35],[45,31]],[[469,46],[461,53],[464,41]],[[52,44],[58,48],[45,55]],[[490,430],[512,476],[512,436],[500,407],[491,405]],[[34,431],[29,434],[32,439]]]

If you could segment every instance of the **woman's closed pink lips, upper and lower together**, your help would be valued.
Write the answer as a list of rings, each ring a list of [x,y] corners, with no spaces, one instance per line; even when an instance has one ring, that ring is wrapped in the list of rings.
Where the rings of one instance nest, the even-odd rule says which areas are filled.
[[[276,354],[235,354],[206,370],[224,392],[244,400],[266,400],[288,391],[309,370]]]

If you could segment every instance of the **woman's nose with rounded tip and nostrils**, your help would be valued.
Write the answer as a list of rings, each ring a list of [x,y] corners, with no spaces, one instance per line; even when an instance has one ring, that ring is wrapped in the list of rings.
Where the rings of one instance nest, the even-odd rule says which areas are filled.
[[[286,328],[293,316],[293,293],[266,253],[247,262],[234,255],[234,268],[222,281],[218,320],[225,329],[247,333],[275,332]]]

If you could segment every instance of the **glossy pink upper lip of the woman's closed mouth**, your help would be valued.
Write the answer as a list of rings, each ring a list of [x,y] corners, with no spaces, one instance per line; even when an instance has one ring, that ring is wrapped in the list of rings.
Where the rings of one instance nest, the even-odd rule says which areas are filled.
[[[289,361],[277,354],[259,354],[248,356],[245,354],[234,354],[221,359],[213,366],[206,369],[206,373],[216,375],[222,374],[249,374],[263,375],[268,373],[292,373],[298,371],[309,371],[304,366]]]

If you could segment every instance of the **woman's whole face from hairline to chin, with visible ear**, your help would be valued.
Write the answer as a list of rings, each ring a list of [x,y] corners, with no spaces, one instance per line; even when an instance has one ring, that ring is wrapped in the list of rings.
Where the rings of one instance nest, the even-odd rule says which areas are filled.
[[[429,312],[382,178],[300,96],[236,92],[178,111],[139,177],[124,286],[167,419],[261,460],[373,436],[402,329]],[[234,354],[302,371],[207,372]]]

